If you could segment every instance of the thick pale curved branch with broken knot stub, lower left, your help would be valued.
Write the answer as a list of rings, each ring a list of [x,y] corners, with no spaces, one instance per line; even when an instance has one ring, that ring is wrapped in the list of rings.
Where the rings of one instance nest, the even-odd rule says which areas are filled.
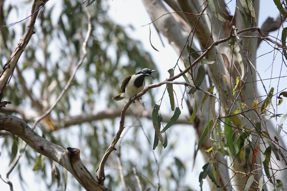
[[[60,147],[47,141],[31,129],[22,119],[13,115],[0,115],[0,130],[9,131],[25,141],[36,152],[66,168],[86,190],[108,191],[92,176],[80,159],[80,150]]]

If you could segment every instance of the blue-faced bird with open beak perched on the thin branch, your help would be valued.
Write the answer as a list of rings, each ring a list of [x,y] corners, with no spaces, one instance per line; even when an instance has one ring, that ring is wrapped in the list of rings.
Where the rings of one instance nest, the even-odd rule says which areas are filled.
[[[150,76],[154,79],[154,77],[152,76],[152,72],[156,71],[149,68],[144,68],[136,74],[131,74],[127,76],[121,85],[122,92],[116,97],[113,97],[112,99],[115,101],[119,101],[126,98],[131,101],[132,97],[135,97],[136,94],[138,94],[144,89],[146,76]],[[141,99],[141,97],[137,98],[137,100],[139,99]]]

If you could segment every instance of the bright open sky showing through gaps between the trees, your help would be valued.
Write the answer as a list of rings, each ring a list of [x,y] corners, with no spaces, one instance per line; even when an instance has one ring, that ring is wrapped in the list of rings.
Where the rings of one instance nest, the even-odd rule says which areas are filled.
[[[52,3],[52,2],[54,4],[55,2],[57,2],[57,0],[50,0],[48,2],[48,4]],[[59,1],[59,3],[61,4],[62,2]],[[58,3],[58,5],[59,5],[59,3]],[[269,3],[266,3],[266,1],[260,1],[260,3],[261,3],[260,4],[261,6],[260,6],[260,12],[259,12],[259,18],[258,18],[258,26],[259,27],[262,25],[263,21],[265,21],[265,19],[268,16],[277,17],[277,14],[278,14],[278,10],[277,10],[276,6],[274,5],[273,1],[270,1]],[[114,21],[120,25],[125,26],[128,34],[130,36],[132,36],[133,38],[135,38],[136,40],[140,40],[142,42],[142,44],[144,45],[144,48],[146,50],[148,50],[150,52],[150,54],[152,54],[152,57],[154,58],[154,61],[159,68],[159,71],[161,72],[160,73],[160,81],[168,78],[169,74],[168,74],[167,70],[172,68],[175,65],[175,63],[177,62],[177,59],[178,59],[178,55],[166,41],[164,41],[164,47],[162,46],[162,44],[159,40],[158,34],[155,31],[153,25],[151,25],[151,30],[152,30],[151,40],[152,40],[152,44],[159,50],[159,52],[155,51],[150,46],[149,26],[147,25],[147,26],[141,27],[141,25],[146,25],[146,24],[150,23],[151,20],[147,14],[142,2],[141,1],[135,1],[135,0],[115,0],[115,1],[109,0],[108,5],[110,7],[109,15],[114,19]],[[61,6],[61,5],[59,5],[59,6]],[[232,9],[231,9],[231,12],[232,12]],[[19,20],[19,18],[17,18],[16,20]],[[130,25],[133,26],[134,29],[129,27]],[[281,30],[280,30],[279,34],[281,34]],[[270,33],[270,35],[277,36],[277,33],[278,33],[278,31]],[[279,35],[279,38],[280,37],[281,37],[281,35]],[[164,39],[163,36],[162,36],[162,38]],[[257,50],[257,55],[265,54],[271,50],[272,50],[272,48],[269,45],[262,42],[261,45],[259,46],[259,49]],[[258,69],[259,73],[261,74],[261,78],[263,78],[263,79],[270,78],[272,68],[269,68],[269,66],[272,63],[272,60],[273,60],[273,53],[267,54],[267,55],[262,56],[262,57],[257,59],[257,69]],[[282,63],[282,58],[280,58],[280,56],[278,56],[278,59],[276,59],[276,62],[274,62],[274,66],[273,66],[273,70],[272,70],[273,77],[279,76],[281,63]],[[281,76],[284,76],[286,74],[287,74],[286,66],[283,66]],[[278,86],[279,91],[282,91],[283,88],[286,87],[286,78],[280,79],[279,85],[278,85],[278,80],[279,80],[279,78],[272,80],[272,83],[270,85],[270,87],[275,88],[275,92],[276,92],[277,86]],[[268,83],[266,83],[265,86],[267,88],[267,91],[269,91],[269,86],[267,84]],[[154,92],[155,91],[163,92],[163,90],[164,90],[164,86],[160,87],[158,90],[153,90],[153,91]],[[261,92],[261,94],[264,94],[264,92]],[[157,95],[158,99],[160,99],[161,96],[162,96],[161,94],[158,94]],[[181,97],[181,96],[182,96],[181,94],[178,94],[178,97]],[[168,100],[166,100],[166,101],[168,101]],[[166,102],[166,103],[168,104],[168,102]],[[286,106],[287,106],[286,103],[287,103],[287,101],[283,102],[281,107],[278,108],[280,111],[278,113],[286,113]],[[188,114],[186,107],[184,108],[183,114]],[[286,124],[283,127],[285,127],[285,126],[286,126]],[[189,131],[190,132],[188,132],[188,133],[192,134],[193,130],[190,129]],[[5,159],[7,159],[7,160],[5,160]],[[6,176],[7,169],[8,169],[6,167],[8,166],[7,164],[9,163],[9,159],[10,159],[10,157],[7,156],[7,153],[6,154],[2,153],[2,155],[0,157],[0,161],[1,161],[0,174],[1,174],[2,178],[4,178],[4,179]],[[197,156],[197,160],[200,160],[199,155]],[[198,182],[198,174],[197,173],[199,173],[201,171],[201,167],[203,166],[203,164],[202,165],[198,164],[197,166],[198,166],[198,168],[193,171],[195,173],[195,175],[191,175],[190,178],[193,180],[193,182],[195,184],[194,188],[196,188],[198,190],[199,189],[199,182]],[[191,171],[191,169],[188,168],[187,172],[188,171]],[[35,181],[37,179],[36,176],[34,176],[34,173],[31,171],[28,171],[28,174],[24,178],[26,179],[27,183],[29,184],[29,187],[33,188],[32,181]],[[14,184],[14,190],[22,190],[21,187],[18,187],[19,186],[19,184],[18,184],[19,180],[18,180],[18,174],[17,174],[16,169],[10,175],[10,179],[12,180],[12,182],[15,183]],[[189,180],[191,180],[191,179],[189,179]],[[9,186],[0,180],[0,188],[8,190]],[[208,187],[204,187],[204,188],[208,190]],[[205,189],[203,189],[203,190],[205,190]],[[42,190],[42,189],[38,187],[37,190]]]

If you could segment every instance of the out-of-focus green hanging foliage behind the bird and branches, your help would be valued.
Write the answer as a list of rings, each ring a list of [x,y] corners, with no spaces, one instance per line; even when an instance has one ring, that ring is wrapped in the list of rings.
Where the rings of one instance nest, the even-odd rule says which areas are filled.
[[[87,3],[90,2],[87,1]],[[11,101],[12,104],[2,109],[2,114],[16,115],[26,120],[31,127],[34,117],[44,113],[57,99],[82,55],[81,47],[87,32],[87,15],[81,4],[82,1],[75,0],[61,2],[51,0],[41,9],[34,26],[36,33],[25,48],[13,77],[5,88],[3,101]],[[29,16],[31,6],[31,0],[0,1],[0,64],[2,67],[26,30],[28,20],[23,19]],[[129,38],[125,28],[108,17],[106,1],[96,0],[88,6],[88,9],[92,18],[92,34],[87,43],[88,55],[77,71],[70,88],[48,116],[48,119],[58,121],[60,127],[66,116],[117,107],[118,103],[111,98],[119,94],[121,82],[125,76],[136,73],[142,68],[157,70],[156,64],[150,54],[142,48],[141,43]],[[23,21],[18,22],[20,20]],[[17,23],[11,25],[14,22]],[[158,75],[155,75],[155,78],[157,80]],[[152,107],[155,101],[151,91],[145,97],[149,97],[148,100],[150,100],[146,102],[146,107]],[[47,140],[65,148],[78,145],[81,149],[82,161],[96,176],[96,169],[117,131],[118,122],[118,119],[105,119],[58,128],[52,132],[46,131],[39,124],[35,131]],[[126,124],[133,125],[127,127],[125,135],[121,138],[125,136],[125,139],[119,145],[122,146],[121,162],[127,186],[132,190],[138,190],[135,188],[137,183],[133,173],[134,167],[143,189],[157,190],[159,178],[157,172],[160,168],[161,172],[164,172],[164,175],[160,175],[162,190],[175,190],[175,188],[191,190],[188,186],[179,184],[185,176],[183,162],[178,158],[165,159],[174,149],[177,137],[174,136],[174,140],[169,140],[169,147],[161,151],[162,157],[159,159],[152,152],[153,131],[149,133],[143,128],[149,126],[153,129],[152,123],[135,116],[128,117]],[[0,133],[2,133],[2,153],[8,152],[11,157],[23,153],[21,139],[7,133]],[[17,148],[15,145],[12,146],[15,141]],[[119,156],[117,153],[113,153],[106,164],[105,186],[110,190],[124,189],[117,156]],[[0,160],[2,160],[1,157],[4,156],[0,156]],[[11,160],[9,168],[15,162],[15,157]],[[158,164],[163,163],[164,160],[166,160],[164,165]],[[42,190],[64,190],[66,184],[69,190],[83,190],[69,173],[66,175],[65,169],[57,163],[55,166],[59,170],[59,176],[55,176],[57,173],[53,172],[51,160],[44,156],[39,157],[38,153],[27,147],[14,169],[21,181],[20,183],[14,179],[11,181],[14,186],[21,184],[23,190],[27,188],[29,190],[30,183],[25,181],[25,176],[27,169],[34,168],[36,176],[39,177],[37,178],[38,190],[40,185],[45,186]],[[5,173],[5,170],[0,172],[3,177]]]

